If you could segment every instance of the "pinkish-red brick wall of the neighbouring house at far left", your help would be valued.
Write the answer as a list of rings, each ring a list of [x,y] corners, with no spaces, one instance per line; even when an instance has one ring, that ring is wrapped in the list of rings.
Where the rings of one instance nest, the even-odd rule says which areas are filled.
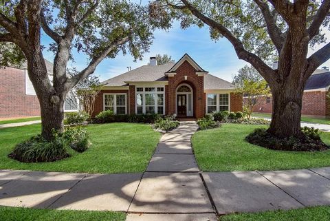
[[[35,95],[25,95],[25,71],[0,68],[0,118],[39,116],[40,105]]]

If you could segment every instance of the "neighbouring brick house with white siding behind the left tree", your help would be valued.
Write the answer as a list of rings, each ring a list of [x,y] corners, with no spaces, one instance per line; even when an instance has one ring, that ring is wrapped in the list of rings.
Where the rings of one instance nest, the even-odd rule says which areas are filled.
[[[53,64],[45,60],[52,81]],[[28,77],[26,64],[0,68],[0,118],[40,116],[39,100]],[[65,112],[77,111],[78,100],[67,98]]]

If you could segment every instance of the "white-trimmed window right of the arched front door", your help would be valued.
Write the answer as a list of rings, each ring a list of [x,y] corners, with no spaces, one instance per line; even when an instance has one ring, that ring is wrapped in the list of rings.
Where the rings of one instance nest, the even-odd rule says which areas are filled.
[[[207,94],[206,112],[210,114],[229,110],[229,103],[229,94]]]

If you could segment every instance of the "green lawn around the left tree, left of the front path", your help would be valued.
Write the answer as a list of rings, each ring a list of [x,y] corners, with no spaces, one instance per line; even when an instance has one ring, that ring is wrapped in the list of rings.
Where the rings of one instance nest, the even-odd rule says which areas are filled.
[[[39,134],[41,125],[0,129],[0,169],[86,173],[133,173],[146,169],[160,138],[150,125],[111,123],[88,125],[93,144],[84,153],[56,162],[25,163],[8,158],[14,145]]]

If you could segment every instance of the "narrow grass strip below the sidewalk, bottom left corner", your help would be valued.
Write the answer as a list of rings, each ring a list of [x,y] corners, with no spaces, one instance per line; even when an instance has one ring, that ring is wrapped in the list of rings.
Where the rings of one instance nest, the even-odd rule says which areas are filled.
[[[1,221],[124,221],[125,213],[0,207]]]

